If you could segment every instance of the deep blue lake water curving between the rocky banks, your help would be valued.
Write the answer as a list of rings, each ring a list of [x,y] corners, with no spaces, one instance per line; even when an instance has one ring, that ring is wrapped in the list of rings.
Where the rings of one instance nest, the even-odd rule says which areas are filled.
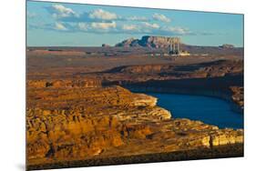
[[[209,96],[147,93],[158,97],[158,106],[170,111],[174,118],[200,120],[220,128],[243,128],[243,115],[231,110],[230,103]]]

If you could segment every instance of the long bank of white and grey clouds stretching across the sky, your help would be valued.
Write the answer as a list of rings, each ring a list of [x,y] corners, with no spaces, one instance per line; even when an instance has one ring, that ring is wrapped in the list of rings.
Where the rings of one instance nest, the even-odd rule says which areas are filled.
[[[151,16],[118,15],[101,8],[77,13],[65,5],[51,5],[46,11],[54,23],[30,25],[30,28],[48,29],[58,32],[84,32],[105,34],[152,34],[152,35],[199,35],[189,28],[171,25],[167,15],[155,13]],[[205,33],[203,33],[205,35]],[[202,34],[202,35],[203,35]]]

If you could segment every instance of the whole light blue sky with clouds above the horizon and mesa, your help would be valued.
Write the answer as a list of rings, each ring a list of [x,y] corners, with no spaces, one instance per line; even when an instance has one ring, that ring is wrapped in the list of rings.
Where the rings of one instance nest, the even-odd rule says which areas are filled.
[[[28,46],[115,45],[143,35],[243,46],[243,15],[27,1]]]

